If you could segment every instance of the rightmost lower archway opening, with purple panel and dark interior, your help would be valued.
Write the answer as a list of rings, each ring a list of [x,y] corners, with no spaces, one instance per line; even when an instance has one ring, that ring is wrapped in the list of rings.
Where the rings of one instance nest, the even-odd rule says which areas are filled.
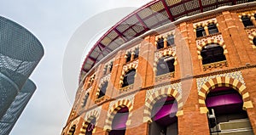
[[[231,87],[216,87],[207,94],[209,110],[208,122],[211,134],[230,132],[231,134],[253,135],[247,111],[242,110],[241,94]]]

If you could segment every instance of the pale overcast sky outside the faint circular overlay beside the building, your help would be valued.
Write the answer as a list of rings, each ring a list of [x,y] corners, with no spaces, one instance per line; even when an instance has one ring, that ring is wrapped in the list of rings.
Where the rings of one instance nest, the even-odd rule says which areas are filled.
[[[73,88],[67,90],[62,82],[64,52],[73,33],[96,14],[113,8],[141,7],[149,1],[1,0],[0,15],[26,27],[44,46],[44,57],[30,77],[38,88],[10,134],[61,134],[72,107],[66,91],[75,92],[78,87],[71,83]],[[78,78],[79,70],[70,71]]]

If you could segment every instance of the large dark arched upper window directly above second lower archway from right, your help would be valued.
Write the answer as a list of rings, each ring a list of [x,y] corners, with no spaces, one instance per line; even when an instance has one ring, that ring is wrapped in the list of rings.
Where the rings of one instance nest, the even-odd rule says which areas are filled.
[[[170,56],[166,56],[164,58],[160,58],[157,64],[157,73],[156,76],[163,75],[169,72],[173,72],[174,68],[174,58]]]

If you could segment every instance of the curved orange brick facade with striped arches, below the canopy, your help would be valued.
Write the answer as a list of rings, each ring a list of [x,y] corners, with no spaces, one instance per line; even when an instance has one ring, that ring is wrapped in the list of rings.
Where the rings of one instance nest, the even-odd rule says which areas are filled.
[[[160,3],[179,6],[148,7]],[[61,134],[253,134],[255,18],[255,2],[236,2],[123,43],[84,74]]]

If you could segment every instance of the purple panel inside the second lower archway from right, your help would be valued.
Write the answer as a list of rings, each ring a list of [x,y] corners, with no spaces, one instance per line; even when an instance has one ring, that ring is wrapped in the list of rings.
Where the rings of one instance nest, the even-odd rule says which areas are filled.
[[[171,117],[176,115],[177,104],[166,104],[166,105],[162,106],[161,108],[160,107],[158,107],[158,109],[156,109],[159,111],[156,113],[156,115],[154,115],[154,121],[157,121],[166,115],[170,115]]]

